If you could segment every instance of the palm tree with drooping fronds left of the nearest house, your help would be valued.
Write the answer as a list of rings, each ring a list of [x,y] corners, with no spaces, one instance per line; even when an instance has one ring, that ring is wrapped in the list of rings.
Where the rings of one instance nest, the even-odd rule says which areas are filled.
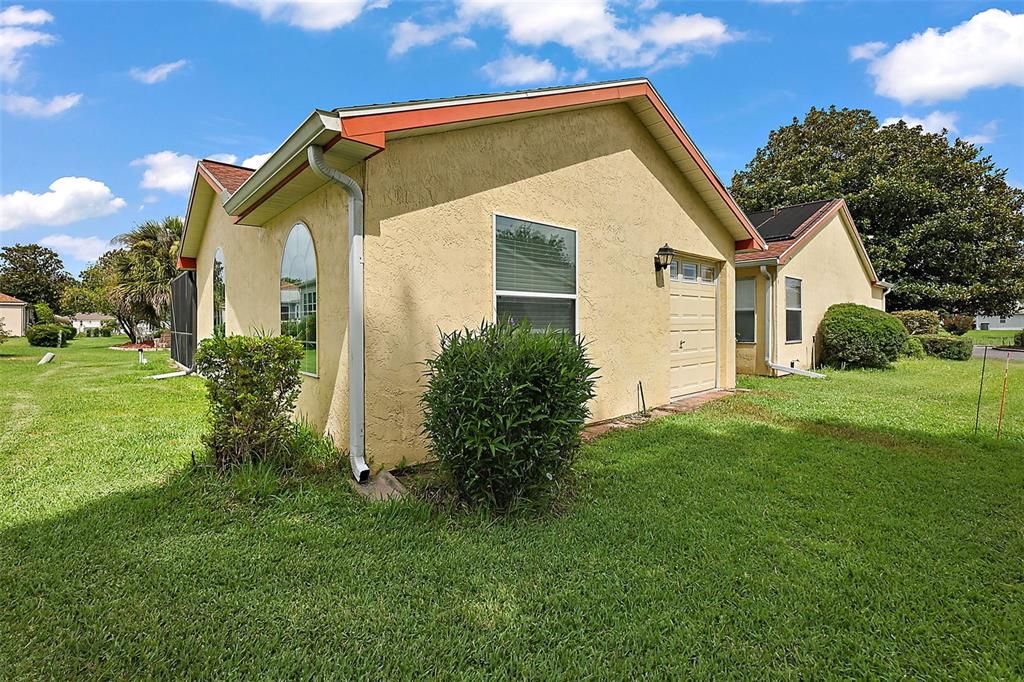
[[[170,315],[171,280],[177,272],[178,244],[184,223],[178,216],[146,220],[114,238],[125,257],[115,261],[118,292],[146,322],[161,325]]]

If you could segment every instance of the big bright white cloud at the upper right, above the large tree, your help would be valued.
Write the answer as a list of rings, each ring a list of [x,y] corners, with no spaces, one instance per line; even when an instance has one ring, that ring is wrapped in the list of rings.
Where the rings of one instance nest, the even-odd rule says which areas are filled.
[[[1024,13],[987,9],[946,33],[928,29],[874,57],[867,71],[876,93],[904,104],[1024,86]]]

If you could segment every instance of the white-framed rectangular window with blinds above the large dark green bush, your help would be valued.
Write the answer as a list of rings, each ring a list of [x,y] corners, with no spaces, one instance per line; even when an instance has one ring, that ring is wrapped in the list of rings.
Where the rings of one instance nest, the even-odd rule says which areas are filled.
[[[495,216],[495,311],[535,330],[575,334],[577,235]]]

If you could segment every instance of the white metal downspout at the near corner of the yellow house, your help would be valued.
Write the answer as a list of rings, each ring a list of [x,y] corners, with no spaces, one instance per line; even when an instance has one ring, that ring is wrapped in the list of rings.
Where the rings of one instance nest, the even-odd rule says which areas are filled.
[[[332,168],[324,159],[324,147],[306,150],[309,169],[325,180],[337,182],[348,195],[348,462],[352,476],[370,480],[367,466],[366,367],[362,324],[362,188],[358,182]]]

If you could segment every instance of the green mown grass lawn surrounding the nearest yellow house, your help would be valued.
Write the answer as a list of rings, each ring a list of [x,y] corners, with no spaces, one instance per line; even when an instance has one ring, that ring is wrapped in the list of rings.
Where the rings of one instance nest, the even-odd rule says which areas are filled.
[[[977,361],[745,379],[488,521],[188,473],[200,382],[109,343],[0,346],[0,678],[1024,676],[1024,364],[998,444]]]

